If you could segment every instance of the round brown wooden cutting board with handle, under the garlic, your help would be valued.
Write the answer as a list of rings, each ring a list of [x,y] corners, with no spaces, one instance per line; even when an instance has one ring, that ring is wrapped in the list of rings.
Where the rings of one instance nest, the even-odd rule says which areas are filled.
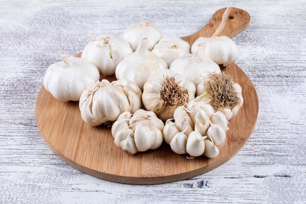
[[[182,39],[192,45],[198,37],[211,37],[224,11],[225,8],[218,10],[204,28]],[[220,35],[233,37],[246,29],[249,21],[247,12],[232,8]],[[114,144],[110,128],[104,125],[92,127],[83,122],[78,102],[57,101],[44,86],[36,101],[37,126],[57,156],[89,175],[132,184],[185,180],[211,171],[231,159],[243,147],[255,127],[258,98],[252,82],[234,63],[225,72],[234,76],[235,82],[240,84],[244,104],[236,117],[230,120],[226,144],[214,159],[186,159],[187,155],[175,154],[165,142],[156,150],[129,155]],[[115,80],[114,76],[106,78]]]

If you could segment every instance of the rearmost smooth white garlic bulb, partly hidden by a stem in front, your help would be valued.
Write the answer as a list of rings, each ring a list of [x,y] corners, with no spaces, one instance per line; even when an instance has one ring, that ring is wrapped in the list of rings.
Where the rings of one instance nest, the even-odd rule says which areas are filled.
[[[134,52],[142,39],[148,38],[148,48],[151,51],[162,35],[161,29],[153,23],[135,23],[124,32],[123,39],[130,43]]]

